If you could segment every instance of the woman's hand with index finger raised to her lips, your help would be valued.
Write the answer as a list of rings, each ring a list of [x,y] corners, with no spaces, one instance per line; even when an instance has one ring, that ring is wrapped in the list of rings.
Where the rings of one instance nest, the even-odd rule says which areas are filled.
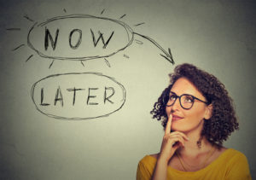
[[[166,163],[172,158],[177,148],[184,147],[185,141],[189,141],[189,138],[182,132],[171,132],[171,126],[172,114],[170,114],[166,124],[165,136],[163,137],[159,156],[159,160],[163,160]]]

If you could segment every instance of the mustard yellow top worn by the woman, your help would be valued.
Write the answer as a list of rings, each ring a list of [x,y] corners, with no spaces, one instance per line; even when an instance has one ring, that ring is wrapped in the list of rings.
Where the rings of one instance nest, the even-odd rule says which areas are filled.
[[[156,159],[146,155],[137,166],[137,180],[149,180],[154,171]],[[241,152],[228,148],[210,165],[199,171],[178,171],[167,167],[167,179],[175,180],[252,180],[247,158]]]

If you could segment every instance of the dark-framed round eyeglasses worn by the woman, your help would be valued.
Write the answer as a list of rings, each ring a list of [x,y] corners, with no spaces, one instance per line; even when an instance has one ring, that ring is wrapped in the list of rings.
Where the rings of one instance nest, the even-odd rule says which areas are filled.
[[[176,102],[177,98],[179,99],[179,104],[181,107],[183,107],[183,109],[190,109],[191,107],[193,107],[195,100],[204,102],[201,99],[198,99],[197,97],[189,94],[183,94],[181,96],[177,96],[174,92],[170,92],[169,99],[168,99],[168,102],[166,103],[166,106],[171,107]],[[206,103],[207,105],[209,104],[209,102],[204,102],[204,103]]]

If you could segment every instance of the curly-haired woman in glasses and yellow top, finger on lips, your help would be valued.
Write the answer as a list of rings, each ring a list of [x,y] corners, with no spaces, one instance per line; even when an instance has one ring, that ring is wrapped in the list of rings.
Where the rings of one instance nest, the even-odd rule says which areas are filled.
[[[163,120],[160,153],[140,160],[137,180],[252,179],[245,155],[222,145],[238,129],[224,84],[191,64],[177,66],[170,78],[151,111]]]

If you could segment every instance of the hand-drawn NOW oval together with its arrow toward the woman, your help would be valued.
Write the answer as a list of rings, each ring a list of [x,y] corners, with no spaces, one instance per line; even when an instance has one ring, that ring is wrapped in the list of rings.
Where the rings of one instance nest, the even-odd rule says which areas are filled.
[[[119,19],[123,17],[125,15]],[[68,26],[69,24],[75,25],[74,28]],[[144,22],[135,26],[143,24]],[[65,25],[65,29],[63,26],[57,25]],[[27,44],[44,58],[86,61],[115,55],[129,47],[135,35],[154,44],[162,51],[163,55],[160,55],[174,64],[171,50],[166,51],[154,39],[134,32],[123,21],[93,15],[64,15],[51,18],[40,24],[36,22],[28,33]],[[136,40],[136,43],[143,44],[139,40]]]

